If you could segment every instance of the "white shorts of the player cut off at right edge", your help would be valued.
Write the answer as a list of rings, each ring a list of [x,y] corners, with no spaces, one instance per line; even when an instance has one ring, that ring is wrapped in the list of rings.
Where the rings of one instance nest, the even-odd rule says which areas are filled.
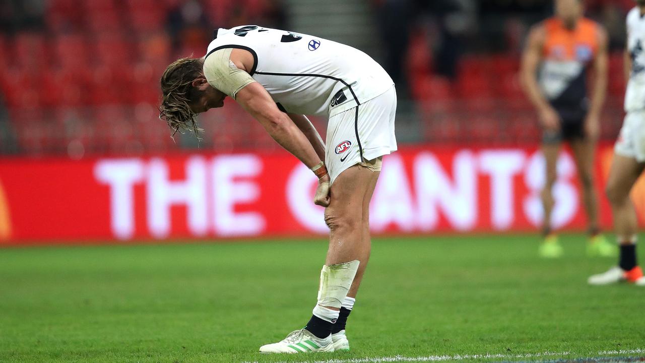
[[[639,163],[645,162],[645,110],[627,113],[614,151]]]

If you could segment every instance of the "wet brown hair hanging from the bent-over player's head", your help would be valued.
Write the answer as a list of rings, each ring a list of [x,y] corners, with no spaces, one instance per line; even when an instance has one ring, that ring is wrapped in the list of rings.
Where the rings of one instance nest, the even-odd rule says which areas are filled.
[[[199,138],[203,131],[197,126],[197,114],[190,110],[190,103],[201,97],[201,92],[193,87],[195,78],[203,76],[203,61],[199,58],[177,59],[163,72],[161,76],[161,105],[159,118],[168,123],[174,136],[182,130],[190,130]]]

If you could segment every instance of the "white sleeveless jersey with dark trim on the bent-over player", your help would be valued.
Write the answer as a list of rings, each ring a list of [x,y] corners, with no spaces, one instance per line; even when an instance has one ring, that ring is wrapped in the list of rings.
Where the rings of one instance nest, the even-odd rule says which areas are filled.
[[[250,75],[286,112],[332,116],[373,99],[394,84],[361,50],[315,36],[261,26],[219,29],[206,57],[222,48],[253,54]]]

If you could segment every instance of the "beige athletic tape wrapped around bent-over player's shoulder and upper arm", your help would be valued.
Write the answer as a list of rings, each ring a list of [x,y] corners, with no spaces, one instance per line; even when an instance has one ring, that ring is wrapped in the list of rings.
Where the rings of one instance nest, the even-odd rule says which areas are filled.
[[[235,98],[242,88],[255,82],[250,74],[235,67],[231,61],[232,48],[215,50],[204,60],[206,81],[224,94]]]

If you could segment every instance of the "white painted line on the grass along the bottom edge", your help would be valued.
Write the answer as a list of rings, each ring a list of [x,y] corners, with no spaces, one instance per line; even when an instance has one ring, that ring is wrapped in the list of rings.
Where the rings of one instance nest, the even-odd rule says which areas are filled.
[[[608,355],[629,355],[645,353],[645,349],[620,349],[620,350],[606,350],[599,351],[595,355],[598,357],[606,357]],[[570,351],[564,352],[551,352],[545,351],[544,353],[526,353],[526,354],[473,354],[473,355],[429,355],[428,357],[402,357],[395,355],[393,357],[374,357],[374,358],[350,358],[350,359],[328,359],[328,360],[315,360],[310,363],[389,363],[389,362],[441,362],[442,360],[465,360],[465,359],[486,359],[486,358],[543,358],[543,357],[557,357],[562,355],[569,355]],[[594,357],[596,358],[596,357]],[[306,361],[305,361],[306,362]],[[255,362],[244,363],[261,363],[257,360]],[[277,363],[288,363],[286,361]],[[304,363],[304,362],[303,362]]]

